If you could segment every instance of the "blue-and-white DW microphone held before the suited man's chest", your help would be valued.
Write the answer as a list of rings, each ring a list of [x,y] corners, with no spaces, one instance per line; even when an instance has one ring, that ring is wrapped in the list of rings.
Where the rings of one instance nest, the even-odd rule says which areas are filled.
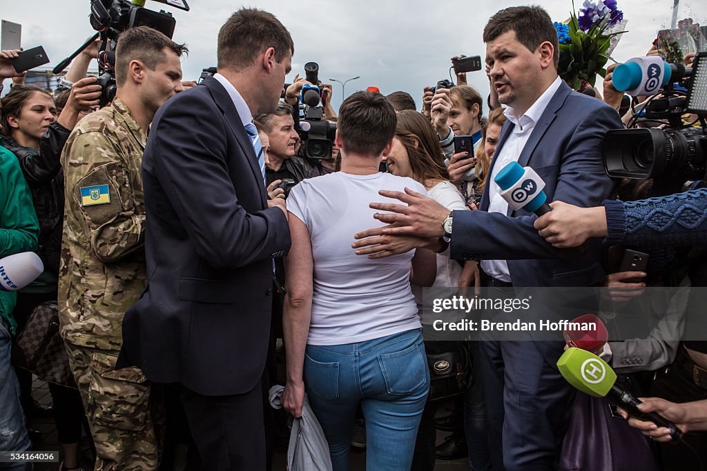
[[[524,168],[518,162],[510,162],[498,172],[493,181],[501,187],[501,196],[514,210],[524,209],[538,216],[552,210],[542,191],[545,182],[530,167]]]

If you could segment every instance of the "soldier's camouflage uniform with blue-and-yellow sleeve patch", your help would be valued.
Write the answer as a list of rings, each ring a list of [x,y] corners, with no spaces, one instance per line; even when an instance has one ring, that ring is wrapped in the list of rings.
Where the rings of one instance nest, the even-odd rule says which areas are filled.
[[[113,370],[125,311],[146,286],[141,178],[147,137],[127,107],[88,115],[62,153],[59,321],[95,441],[95,470],[155,470],[163,422],[137,368]],[[156,427],[156,422],[160,427]]]

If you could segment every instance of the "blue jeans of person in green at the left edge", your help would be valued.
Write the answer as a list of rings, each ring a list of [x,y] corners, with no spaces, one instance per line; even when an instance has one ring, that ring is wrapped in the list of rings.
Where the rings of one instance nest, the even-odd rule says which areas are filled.
[[[32,442],[27,435],[25,415],[20,405],[20,384],[10,365],[12,340],[8,324],[0,318],[0,450],[28,451]],[[3,470],[30,470],[29,463],[1,463]]]

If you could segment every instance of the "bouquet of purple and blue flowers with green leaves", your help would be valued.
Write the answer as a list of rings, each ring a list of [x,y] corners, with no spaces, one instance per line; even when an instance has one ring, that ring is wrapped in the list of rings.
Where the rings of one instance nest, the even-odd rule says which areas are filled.
[[[585,0],[579,17],[573,12],[563,23],[554,23],[560,48],[558,72],[563,81],[575,90],[580,90],[583,82],[593,87],[597,73],[606,75],[604,65],[612,59],[609,54],[626,23],[616,0]]]

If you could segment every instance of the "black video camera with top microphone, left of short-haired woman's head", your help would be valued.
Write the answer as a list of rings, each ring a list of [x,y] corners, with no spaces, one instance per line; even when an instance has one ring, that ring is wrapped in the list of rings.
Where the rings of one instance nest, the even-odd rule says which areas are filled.
[[[300,92],[300,109],[295,123],[302,139],[299,155],[314,160],[329,160],[332,158],[332,142],[337,136],[337,126],[323,119],[322,101],[327,100],[327,95],[316,86],[321,83],[316,62],[305,64],[305,78],[315,85],[304,85]]]

